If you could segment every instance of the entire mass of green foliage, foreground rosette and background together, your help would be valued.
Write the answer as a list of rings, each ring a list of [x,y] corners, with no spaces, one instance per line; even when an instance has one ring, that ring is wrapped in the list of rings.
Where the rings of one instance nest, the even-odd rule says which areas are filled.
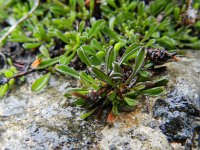
[[[0,0],[0,36],[33,5],[32,0]],[[149,4],[139,0],[40,2],[32,16],[0,43],[19,42],[25,51],[36,53],[34,63],[23,73],[12,63],[0,72],[0,96],[20,73],[45,70],[46,74],[33,83],[33,91],[46,87],[51,74],[67,74],[82,84],[81,88],[68,89],[65,96],[77,97],[74,104],[90,110],[83,119],[105,108],[111,108],[110,115],[116,116],[119,110],[136,106],[142,96],[164,91],[167,78],[158,79],[150,71],[154,61],[146,57],[149,48],[200,48],[198,9],[198,0],[192,4],[173,0]],[[191,10],[193,17],[188,14]],[[85,65],[76,66],[80,63]]]

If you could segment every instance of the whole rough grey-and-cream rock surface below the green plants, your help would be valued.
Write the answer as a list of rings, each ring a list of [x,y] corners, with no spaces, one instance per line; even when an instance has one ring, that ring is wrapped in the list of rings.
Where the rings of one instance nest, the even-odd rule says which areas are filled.
[[[0,100],[0,149],[198,149],[199,64],[198,51],[169,63],[167,97],[149,99],[149,112],[141,106],[113,125],[78,119],[83,110],[62,95],[76,81],[52,76],[45,91],[34,93],[30,84],[39,76],[31,75]]]

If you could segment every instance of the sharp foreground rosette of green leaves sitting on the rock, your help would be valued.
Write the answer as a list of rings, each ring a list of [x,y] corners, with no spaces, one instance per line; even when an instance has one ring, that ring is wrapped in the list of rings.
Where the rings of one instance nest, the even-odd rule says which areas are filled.
[[[163,93],[167,78],[156,79],[144,67],[147,49],[144,46],[131,45],[120,58],[113,47],[109,47],[104,64],[94,66],[81,47],[80,59],[89,67],[89,73],[77,72],[66,65],[57,65],[60,73],[71,75],[80,80],[82,88],[70,88],[65,96],[75,96],[76,105],[84,105],[90,111],[81,115],[82,119],[96,113],[100,115],[106,108],[117,116],[122,108],[136,106],[142,95],[157,96]],[[128,63],[131,55],[136,54],[135,63]],[[129,70],[129,71],[126,71]]]

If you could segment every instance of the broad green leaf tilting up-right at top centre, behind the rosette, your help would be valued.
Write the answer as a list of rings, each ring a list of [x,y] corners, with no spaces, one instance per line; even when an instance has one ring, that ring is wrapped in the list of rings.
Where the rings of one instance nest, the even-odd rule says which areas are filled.
[[[96,35],[100,31],[104,22],[105,21],[103,19],[100,19],[93,24],[93,26],[90,29],[90,32],[88,34],[89,39],[92,38],[94,35]]]

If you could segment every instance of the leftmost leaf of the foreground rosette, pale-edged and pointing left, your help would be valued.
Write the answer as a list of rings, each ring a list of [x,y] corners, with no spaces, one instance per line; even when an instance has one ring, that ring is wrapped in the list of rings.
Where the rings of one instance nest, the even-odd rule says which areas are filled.
[[[66,65],[57,65],[56,70],[63,74],[68,74],[74,78],[79,78],[79,73]]]

